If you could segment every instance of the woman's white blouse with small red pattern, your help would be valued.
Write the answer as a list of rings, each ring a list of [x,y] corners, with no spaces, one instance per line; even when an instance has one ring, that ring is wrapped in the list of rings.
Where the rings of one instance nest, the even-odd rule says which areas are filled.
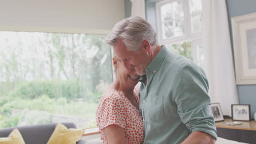
[[[136,87],[133,93],[139,104],[138,89]],[[102,129],[111,124],[125,129],[126,143],[138,144],[143,142],[144,130],[139,110],[131,104],[122,92],[108,88],[102,95],[97,109],[97,126],[105,144],[108,142]]]

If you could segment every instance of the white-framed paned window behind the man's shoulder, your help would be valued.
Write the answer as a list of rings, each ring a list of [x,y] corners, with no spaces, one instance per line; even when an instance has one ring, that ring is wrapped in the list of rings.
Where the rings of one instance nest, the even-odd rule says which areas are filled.
[[[201,0],[156,3],[159,43],[203,67]]]

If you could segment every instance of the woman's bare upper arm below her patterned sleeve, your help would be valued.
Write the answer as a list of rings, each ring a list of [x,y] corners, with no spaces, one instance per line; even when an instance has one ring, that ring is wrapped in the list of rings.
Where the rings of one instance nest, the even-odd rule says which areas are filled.
[[[102,129],[109,144],[125,144],[125,129],[111,124]]]

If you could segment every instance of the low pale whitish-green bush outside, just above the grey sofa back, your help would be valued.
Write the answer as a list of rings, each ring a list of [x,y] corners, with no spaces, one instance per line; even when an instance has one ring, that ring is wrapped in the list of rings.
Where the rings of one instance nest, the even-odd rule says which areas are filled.
[[[51,122],[50,113],[45,111],[26,109],[24,112],[21,113],[21,116],[19,117],[18,126],[44,124],[44,123],[50,123],[50,122]]]

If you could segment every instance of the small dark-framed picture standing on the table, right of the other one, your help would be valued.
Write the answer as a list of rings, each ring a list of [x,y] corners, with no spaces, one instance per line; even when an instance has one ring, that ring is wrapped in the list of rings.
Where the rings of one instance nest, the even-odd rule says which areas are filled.
[[[251,105],[231,105],[233,121],[251,121]]]

